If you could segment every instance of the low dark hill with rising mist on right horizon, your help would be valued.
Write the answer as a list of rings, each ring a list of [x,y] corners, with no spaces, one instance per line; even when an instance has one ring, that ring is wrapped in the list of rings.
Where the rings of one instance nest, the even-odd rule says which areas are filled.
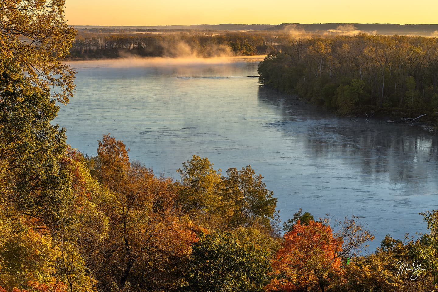
[[[269,31],[290,31],[310,34],[357,34],[360,32],[379,35],[426,35],[438,36],[438,25],[395,25],[395,24],[345,24],[345,23],[318,23],[300,24],[283,23]]]

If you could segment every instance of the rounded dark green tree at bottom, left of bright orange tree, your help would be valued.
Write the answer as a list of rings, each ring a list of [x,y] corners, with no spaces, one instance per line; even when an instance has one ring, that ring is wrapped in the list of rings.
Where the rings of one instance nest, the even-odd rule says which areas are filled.
[[[270,254],[227,232],[202,235],[193,244],[185,291],[256,292],[269,281]]]

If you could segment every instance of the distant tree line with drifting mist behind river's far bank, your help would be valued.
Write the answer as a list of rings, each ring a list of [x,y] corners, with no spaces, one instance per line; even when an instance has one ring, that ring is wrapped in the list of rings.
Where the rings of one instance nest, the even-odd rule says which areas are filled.
[[[141,57],[216,57],[265,55],[285,36],[268,33],[172,32],[145,34],[78,35],[69,59]],[[279,39],[280,38],[280,39]]]

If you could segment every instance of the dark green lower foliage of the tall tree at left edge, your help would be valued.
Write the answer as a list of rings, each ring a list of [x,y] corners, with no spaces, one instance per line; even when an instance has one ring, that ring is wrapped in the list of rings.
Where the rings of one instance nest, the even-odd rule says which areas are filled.
[[[70,196],[60,167],[65,129],[52,126],[59,107],[11,63],[0,74],[0,181],[2,196],[23,213],[40,218],[59,212]],[[63,195],[61,195],[63,193]]]

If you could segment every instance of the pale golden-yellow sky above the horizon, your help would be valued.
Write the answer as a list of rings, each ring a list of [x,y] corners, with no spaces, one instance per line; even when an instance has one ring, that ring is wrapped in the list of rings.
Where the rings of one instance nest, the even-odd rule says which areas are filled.
[[[66,0],[69,25],[438,24],[438,0]]]

